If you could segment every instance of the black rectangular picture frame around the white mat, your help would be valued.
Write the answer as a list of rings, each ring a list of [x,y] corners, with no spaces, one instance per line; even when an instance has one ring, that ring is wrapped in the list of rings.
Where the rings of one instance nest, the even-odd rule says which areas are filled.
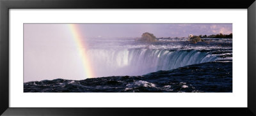
[[[10,108],[9,10],[17,8],[244,8],[248,10],[247,108]],[[2,115],[256,115],[255,0],[0,0],[0,114]],[[241,77],[246,78],[246,77]],[[236,102],[236,101],[234,101]]]

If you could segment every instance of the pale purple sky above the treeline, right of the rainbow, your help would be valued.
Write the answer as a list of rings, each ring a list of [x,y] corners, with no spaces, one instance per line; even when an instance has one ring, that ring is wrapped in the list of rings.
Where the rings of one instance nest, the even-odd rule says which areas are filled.
[[[157,37],[186,37],[189,34],[230,34],[232,24],[80,24],[86,37],[140,37],[153,33]]]

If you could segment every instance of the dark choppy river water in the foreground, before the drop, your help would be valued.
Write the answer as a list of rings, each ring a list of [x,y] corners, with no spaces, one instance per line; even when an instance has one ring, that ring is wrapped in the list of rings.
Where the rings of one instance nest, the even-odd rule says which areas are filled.
[[[232,62],[205,62],[141,76],[26,82],[24,92],[232,92]]]

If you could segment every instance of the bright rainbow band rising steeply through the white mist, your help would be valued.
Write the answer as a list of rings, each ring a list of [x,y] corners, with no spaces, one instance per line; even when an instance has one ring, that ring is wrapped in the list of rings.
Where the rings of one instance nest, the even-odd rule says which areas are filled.
[[[72,33],[72,37],[74,38],[74,41],[76,42],[77,51],[79,52],[79,55],[81,56],[81,60],[83,62],[83,68],[86,78],[93,78],[95,77],[93,73],[92,64],[90,63],[90,59],[86,54],[86,46],[84,45],[84,41],[82,38],[82,33],[79,29],[79,26],[77,24],[68,24],[68,27]]]

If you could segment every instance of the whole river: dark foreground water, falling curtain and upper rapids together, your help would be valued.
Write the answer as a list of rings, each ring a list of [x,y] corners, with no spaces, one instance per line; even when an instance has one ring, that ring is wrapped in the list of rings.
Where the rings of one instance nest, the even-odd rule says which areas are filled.
[[[24,92],[232,92],[232,39],[87,40],[99,78],[24,83]]]

